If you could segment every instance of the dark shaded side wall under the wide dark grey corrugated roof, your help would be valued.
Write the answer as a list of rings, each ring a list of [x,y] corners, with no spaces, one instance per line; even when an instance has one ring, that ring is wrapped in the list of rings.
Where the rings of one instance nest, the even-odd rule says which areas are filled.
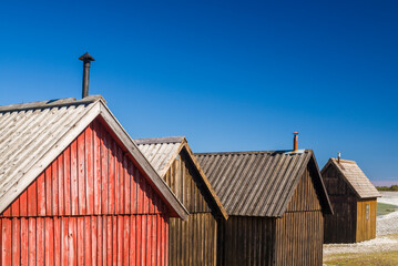
[[[229,216],[218,223],[218,266],[274,265],[275,219]]]

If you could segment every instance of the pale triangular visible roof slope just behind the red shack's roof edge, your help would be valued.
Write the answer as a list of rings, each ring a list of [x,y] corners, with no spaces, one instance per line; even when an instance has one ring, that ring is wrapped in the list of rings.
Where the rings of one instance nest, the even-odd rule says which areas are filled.
[[[183,136],[152,137],[134,140],[140,151],[150,161],[160,176],[164,176],[181,151]]]

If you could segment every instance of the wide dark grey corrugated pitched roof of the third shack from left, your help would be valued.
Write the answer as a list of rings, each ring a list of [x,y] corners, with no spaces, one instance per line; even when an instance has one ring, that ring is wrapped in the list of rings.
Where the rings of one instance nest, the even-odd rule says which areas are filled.
[[[195,154],[229,215],[280,217],[315,156],[310,150]],[[319,171],[317,171],[319,173]],[[323,209],[331,213],[325,186]]]

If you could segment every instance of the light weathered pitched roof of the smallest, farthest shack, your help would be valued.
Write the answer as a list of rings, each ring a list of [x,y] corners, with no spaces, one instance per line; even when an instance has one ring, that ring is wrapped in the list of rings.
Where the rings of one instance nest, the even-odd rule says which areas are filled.
[[[340,158],[338,162],[337,158],[329,158],[322,170],[323,174],[329,165],[334,165],[341,173],[347,184],[354,190],[359,198],[381,196],[355,161]]]

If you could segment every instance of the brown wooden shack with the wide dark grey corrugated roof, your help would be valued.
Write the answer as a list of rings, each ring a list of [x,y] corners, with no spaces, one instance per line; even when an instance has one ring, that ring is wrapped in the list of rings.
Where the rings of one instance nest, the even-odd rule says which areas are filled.
[[[322,265],[333,211],[312,150],[195,155],[229,215],[217,265]]]

